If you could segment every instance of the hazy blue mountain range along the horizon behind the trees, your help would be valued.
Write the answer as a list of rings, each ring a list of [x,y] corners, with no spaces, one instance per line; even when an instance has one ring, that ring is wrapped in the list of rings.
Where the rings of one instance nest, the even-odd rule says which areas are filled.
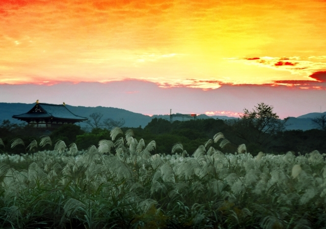
[[[21,123],[21,121],[13,119],[13,115],[20,115],[22,113],[28,112],[33,104],[26,103],[0,103],[0,122],[2,120],[10,120],[12,123]],[[113,120],[119,120],[123,118],[125,120],[125,126],[127,127],[145,127],[153,118],[162,118],[170,120],[169,115],[154,115],[152,117],[142,115],[141,113],[131,112],[125,109],[114,108],[114,107],[85,107],[85,106],[70,106],[66,105],[67,108],[73,112],[75,115],[82,117],[89,117],[91,113],[100,112],[103,114],[102,120],[111,118]],[[326,115],[326,112],[323,113],[307,113],[299,117],[290,117],[287,122],[287,130],[310,130],[316,128],[311,121],[311,119],[316,118],[320,115]],[[199,115],[197,119],[235,119],[234,117],[227,116],[206,116]],[[182,118],[173,118],[173,120],[180,120]],[[188,119],[184,119],[188,120]],[[80,126],[87,126],[86,123],[79,123]]]

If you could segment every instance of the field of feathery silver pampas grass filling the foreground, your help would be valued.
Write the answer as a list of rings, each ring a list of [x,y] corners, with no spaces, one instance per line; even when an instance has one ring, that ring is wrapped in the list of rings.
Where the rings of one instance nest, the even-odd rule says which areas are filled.
[[[117,136],[121,136],[116,139]],[[307,155],[256,157],[210,147],[190,157],[181,144],[166,155],[132,130],[78,151],[44,136],[21,155],[7,155],[0,138],[1,228],[323,228],[326,163]],[[17,138],[11,147],[24,145]]]

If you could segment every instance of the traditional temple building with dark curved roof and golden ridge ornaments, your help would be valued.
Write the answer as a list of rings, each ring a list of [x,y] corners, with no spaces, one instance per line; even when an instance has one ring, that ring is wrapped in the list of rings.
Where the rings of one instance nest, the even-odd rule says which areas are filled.
[[[63,124],[74,124],[86,121],[87,118],[76,116],[66,107],[66,104],[39,103],[38,100],[33,108],[21,115],[12,118],[27,122],[37,128],[56,128]]]

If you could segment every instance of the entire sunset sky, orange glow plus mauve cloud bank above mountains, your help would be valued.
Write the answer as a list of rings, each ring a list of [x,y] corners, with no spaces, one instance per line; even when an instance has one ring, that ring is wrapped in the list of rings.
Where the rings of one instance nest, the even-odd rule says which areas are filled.
[[[326,1],[0,0],[0,102],[326,111]]]

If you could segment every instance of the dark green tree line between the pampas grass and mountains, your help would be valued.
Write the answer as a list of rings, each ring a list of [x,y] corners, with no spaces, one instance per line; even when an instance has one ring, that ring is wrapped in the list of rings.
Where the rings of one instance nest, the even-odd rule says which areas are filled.
[[[319,129],[307,131],[287,130],[284,131],[286,119],[280,120],[273,112],[273,106],[260,103],[252,111],[244,109],[240,119],[198,119],[189,121],[170,121],[165,119],[152,119],[145,128],[122,127],[124,120],[104,120],[100,122],[100,114],[94,114],[88,121],[89,129],[81,129],[77,125],[63,125],[58,129],[48,131],[36,129],[30,126],[11,124],[8,120],[0,124],[0,137],[11,153],[24,152],[22,149],[10,149],[10,141],[16,137],[29,144],[30,139],[39,139],[42,135],[48,135],[52,140],[58,139],[70,145],[75,142],[79,149],[87,150],[91,145],[97,146],[102,139],[111,139],[112,127],[120,126],[123,131],[132,129],[135,138],[143,138],[146,144],[151,140],[156,141],[155,153],[169,154],[174,144],[180,142],[189,155],[205,145],[207,140],[212,139],[216,133],[222,132],[228,144],[220,147],[221,140],[211,146],[222,152],[235,152],[241,144],[247,146],[247,151],[253,155],[263,151],[265,153],[283,154],[288,151],[302,154],[318,150],[326,153],[326,131],[323,126]],[[316,121],[318,121],[316,119]],[[321,117],[320,123],[323,124]],[[316,126],[318,127],[318,126]],[[119,136],[118,136],[119,137]]]

